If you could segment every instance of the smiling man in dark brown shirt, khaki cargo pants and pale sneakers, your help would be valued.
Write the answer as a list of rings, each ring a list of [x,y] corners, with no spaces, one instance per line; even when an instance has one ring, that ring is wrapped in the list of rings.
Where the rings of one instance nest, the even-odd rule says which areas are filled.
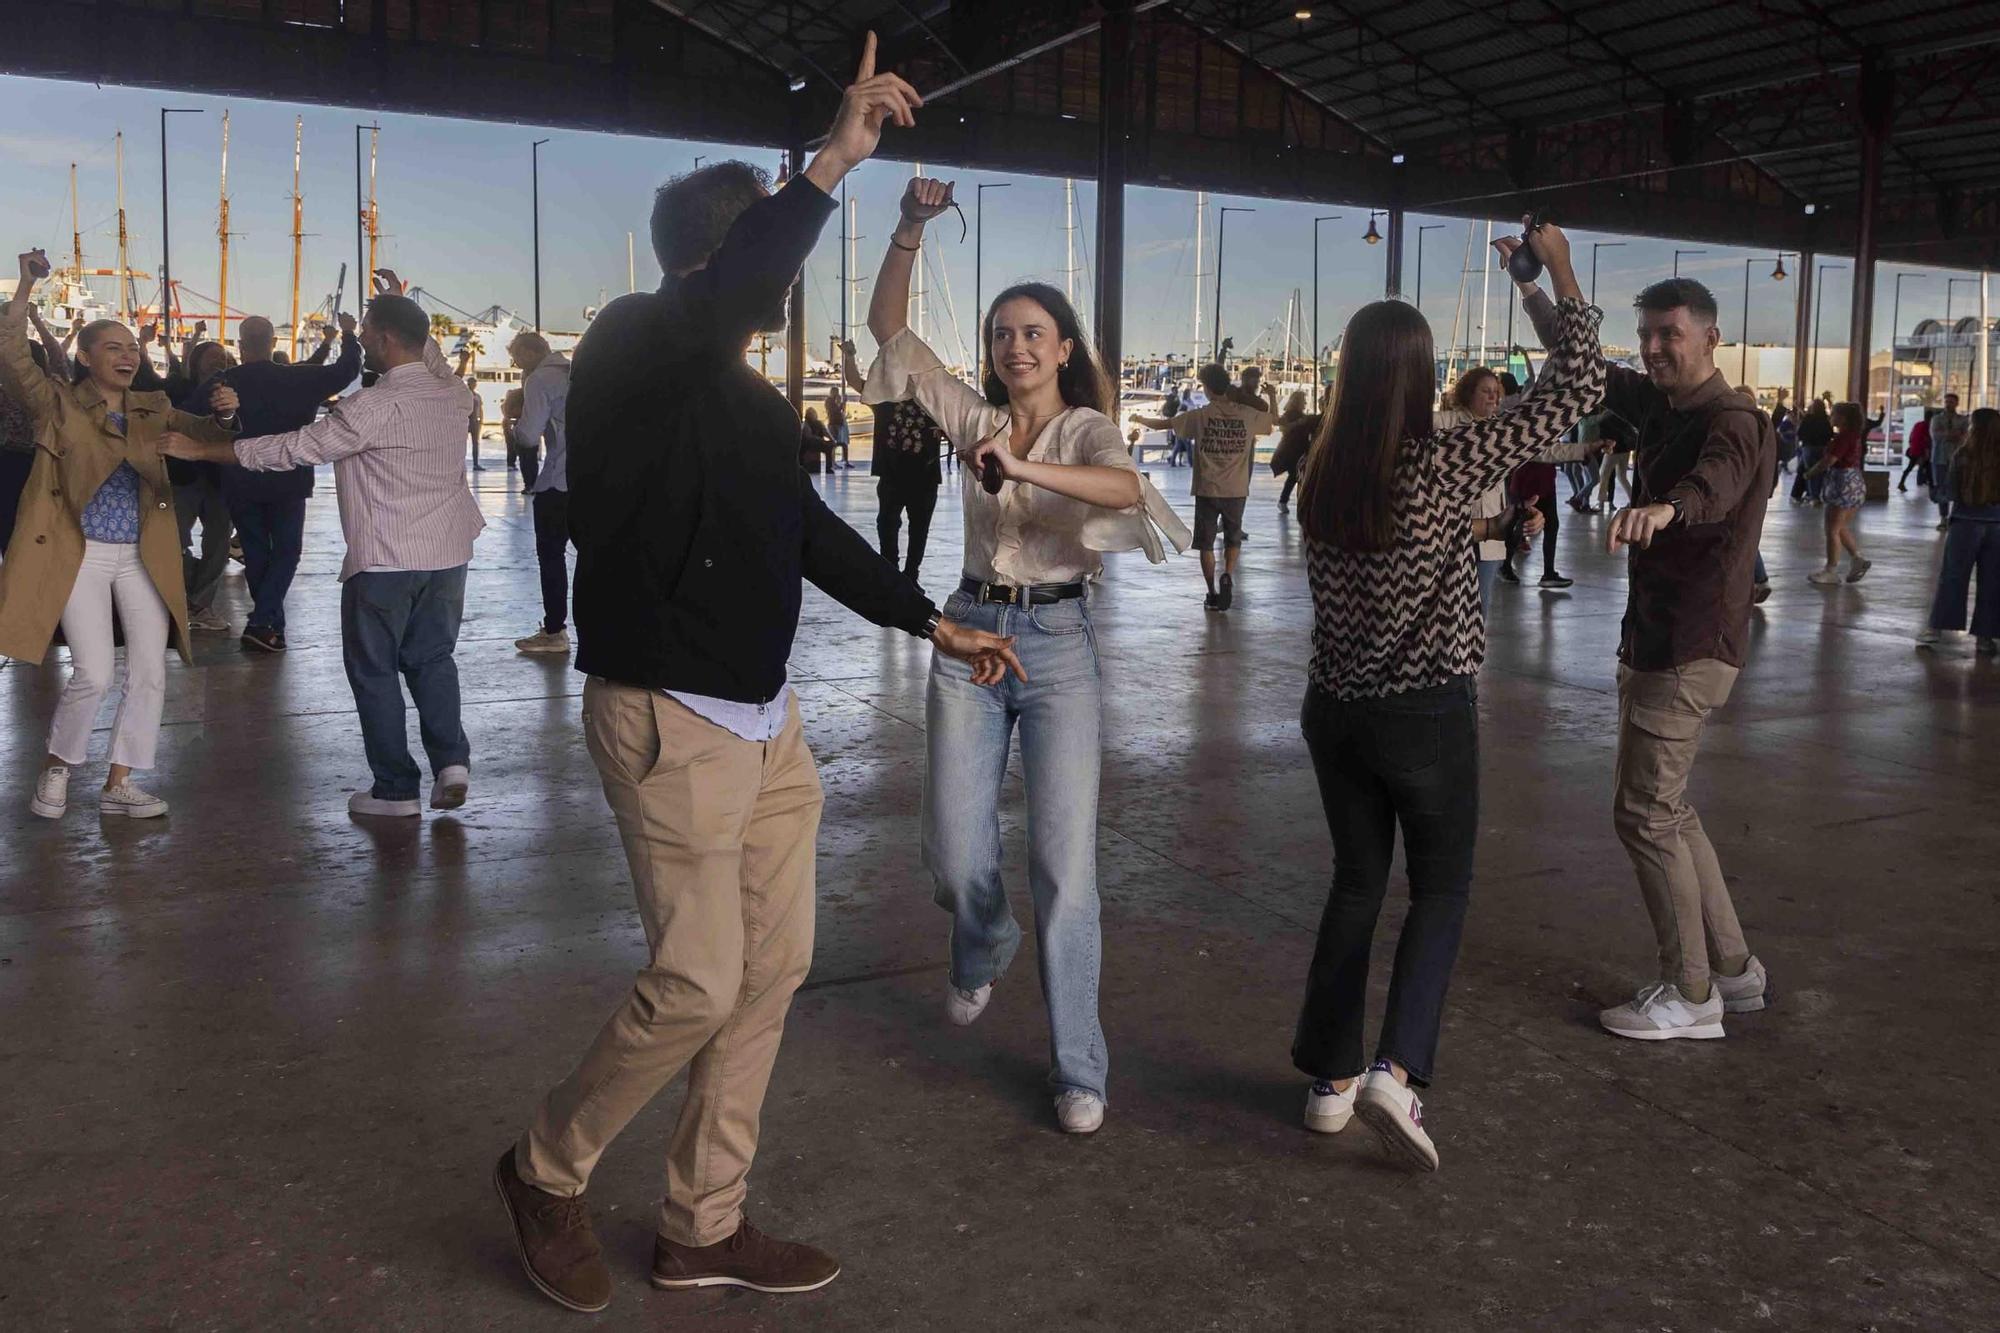
[[[1716,298],[1706,286],[1654,282],[1634,306],[1646,372],[1612,366],[1604,390],[1604,406],[1638,426],[1632,506],[1608,534],[1610,550],[1632,550],[1612,819],[1652,917],[1660,979],[1598,1021],[1640,1041],[1722,1037],[1724,1011],[1764,1007],[1764,965],[1744,943],[1686,789],[1702,725],[1744,664],[1778,438],[1716,370]],[[1528,288],[1526,310],[1548,342],[1548,298]]]

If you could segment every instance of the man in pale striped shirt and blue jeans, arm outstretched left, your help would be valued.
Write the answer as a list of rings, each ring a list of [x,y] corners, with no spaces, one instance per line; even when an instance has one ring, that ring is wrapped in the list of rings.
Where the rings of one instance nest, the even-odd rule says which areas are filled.
[[[390,292],[394,274],[382,274]],[[466,416],[458,382],[430,318],[408,296],[376,296],[360,328],[374,386],[304,430],[234,444],[168,434],[168,456],[234,462],[252,472],[334,464],[340,530],[340,642],[374,785],[348,801],[354,815],[414,817],[422,773],[410,759],[402,683],[416,701],[430,759],[430,809],[466,803],[472,747],[458,721],[458,620],[472,540],[486,526],[466,488]]]

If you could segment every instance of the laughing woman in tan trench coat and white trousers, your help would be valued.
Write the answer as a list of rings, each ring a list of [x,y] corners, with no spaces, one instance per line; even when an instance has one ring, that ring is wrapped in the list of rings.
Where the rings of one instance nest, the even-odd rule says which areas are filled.
[[[116,606],[126,689],[98,809],[150,819],[166,815],[166,803],[140,791],[132,771],[152,767],[170,632],[190,660],[174,488],[158,440],[162,430],[232,438],[236,394],[218,386],[214,404],[224,416],[204,418],[172,408],[166,394],[134,390],[140,346],[116,320],[78,334],[74,384],[48,378],[28,352],[28,294],[42,276],[42,252],[22,254],[14,300],[0,308],[0,384],[36,426],[34,466],[0,560],[0,654],[40,662],[58,622],[70,644],[70,681],[28,805],[46,819],[68,809],[70,767],[88,757],[114,671]]]

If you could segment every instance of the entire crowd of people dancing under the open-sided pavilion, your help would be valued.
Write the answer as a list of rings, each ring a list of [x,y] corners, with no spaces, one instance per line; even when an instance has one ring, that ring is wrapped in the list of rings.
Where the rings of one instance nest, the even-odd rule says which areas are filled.
[[[1686,789],[1702,731],[1750,648],[1750,608],[1766,586],[1758,540],[1790,412],[1774,420],[1716,368],[1708,288],[1688,278],[1648,286],[1634,302],[1642,368],[1606,364],[1602,314],[1578,286],[1568,238],[1540,224],[1496,242],[1502,262],[1526,246],[1548,274],[1548,290],[1518,284],[1546,348],[1526,384],[1474,368],[1440,408],[1430,324],[1400,300],[1354,314],[1320,414],[1302,394],[1274,412],[1254,378],[1204,366],[1204,404],[1144,422],[1188,440],[1190,532],[1136,466],[1110,416],[1110,372],[1060,290],[1024,282],[990,302],[976,386],[906,324],[924,228],[954,206],[948,182],[906,188],[868,310],[880,350],[864,370],[842,348],[826,420],[808,410],[802,424],[746,362],[760,332],[784,326],[786,294],[840,180],[920,106],[910,84],[874,70],[870,38],[802,172],[772,188],[754,166],[716,162],[670,180],[650,218],[660,288],[610,302],[574,358],[532,332],[508,348],[524,382],[504,428],[530,494],[542,590],[540,626],[516,646],[570,652],[574,620],[582,739],[648,945],[630,995],[494,1167],[528,1279],[570,1309],[602,1309],[612,1295],[584,1207],[592,1171],[682,1071],[652,1283],[810,1291],[840,1271],[832,1255],[764,1235],[742,1211],[814,941],[822,793],[788,677],[804,580],[932,648],[918,829],[948,919],[940,999],[958,1027],[1012,995],[1004,983],[1022,927],[1002,879],[1000,817],[1018,733],[1054,1123],[1072,1135],[1102,1127],[1110,1051],[1098,1015],[1104,737],[1092,590],[1106,552],[1164,562],[1192,544],[1208,606],[1228,610],[1254,442],[1272,430],[1272,468],[1286,478],[1278,504],[1296,490],[1304,532],[1314,624],[1300,727],[1334,845],[1292,1039],[1304,1127],[1338,1133],[1360,1119],[1396,1159],[1440,1165],[1422,1093],[1440,1073],[1480,829],[1482,608],[1498,580],[1520,580],[1512,562],[1538,534],[1542,586],[1570,584],[1554,564],[1558,468],[1574,468],[1572,506],[1596,508],[1614,484],[1628,500],[1606,526],[1630,576],[1614,664],[1612,823],[1656,961],[1600,1025],[1642,1041],[1718,1039],[1726,1015],[1770,997]],[[328,336],[312,362],[284,364],[270,322],[248,318],[240,360],[196,330],[166,376],[146,356],[152,330],[84,326],[74,370],[48,330],[30,338],[42,274],[40,252],[22,254],[0,310],[0,478],[20,478],[0,510],[12,526],[0,652],[42,660],[58,624],[70,648],[34,813],[64,813],[68,773],[88,757],[112,679],[114,610],[128,666],[100,809],[166,813],[132,775],[154,761],[168,644],[188,660],[190,628],[214,624],[234,524],[252,598],[242,642],[286,650],[286,592],[324,464],[346,542],[342,656],[372,775],[348,809],[422,811],[404,687],[432,775],[428,805],[462,807],[472,747],[454,652],[484,528],[466,484],[466,436],[478,438],[480,420],[464,368],[446,362],[396,274],[374,274],[362,318],[340,320],[338,354]],[[358,374],[364,388],[328,408]],[[876,422],[876,544],[826,506],[812,462],[802,466],[844,454],[848,394]],[[662,396],[676,404],[670,414],[658,410]],[[1794,484],[1818,486],[1828,512],[1828,564],[1814,582],[1840,576],[1842,552],[1848,582],[1868,570],[1852,530],[1866,426],[1854,404],[1822,412],[1814,402],[1796,422]],[[1932,490],[1944,486],[1950,506],[1926,642],[1964,628],[1976,572],[1972,630],[1990,652],[2000,636],[2000,412],[1962,422],[1948,400],[1926,436]],[[964,566],[936,604],[918,570],[944,458],[962,464]],[[1410,911],[1370,1045],[1370,953],[1398,831]]]

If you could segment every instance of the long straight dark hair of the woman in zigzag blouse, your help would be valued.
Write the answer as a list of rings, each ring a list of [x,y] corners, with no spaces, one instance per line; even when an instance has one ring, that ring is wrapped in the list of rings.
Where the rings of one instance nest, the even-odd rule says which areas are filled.
[[[1334,404],[1306,454],[1298,516],[1306,536],[1342,550],[1396,544],[1396,456],[1430,434],[1438,392],[1430,322],[1402,300],[1354,312],[1340,340]]]

